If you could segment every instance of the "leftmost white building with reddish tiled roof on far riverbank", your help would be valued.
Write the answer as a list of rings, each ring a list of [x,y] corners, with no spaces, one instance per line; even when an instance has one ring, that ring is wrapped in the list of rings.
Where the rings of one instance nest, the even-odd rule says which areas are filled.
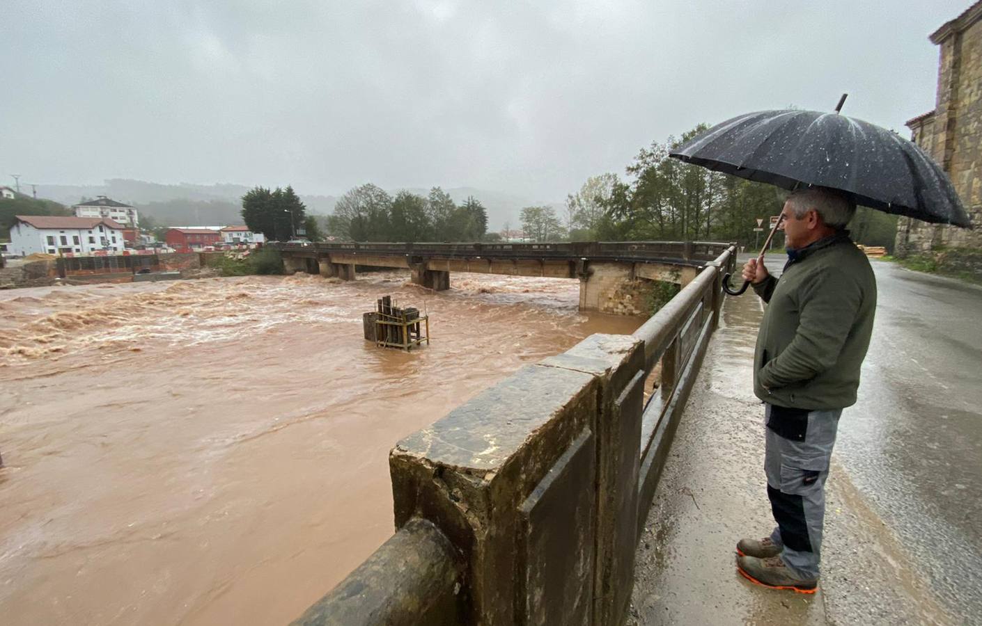
[[[10,229],[10,251],[27,256],[87,254],[96,250],[123,252],[123,225],[108,218],[16,215]]]

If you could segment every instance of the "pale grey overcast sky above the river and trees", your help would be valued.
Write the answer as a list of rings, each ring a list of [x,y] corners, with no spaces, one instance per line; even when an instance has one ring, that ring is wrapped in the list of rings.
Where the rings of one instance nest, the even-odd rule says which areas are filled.
[[[0,183],[470,185],[562,200],[699,122],[908,132],[970,0],[3,3]]]

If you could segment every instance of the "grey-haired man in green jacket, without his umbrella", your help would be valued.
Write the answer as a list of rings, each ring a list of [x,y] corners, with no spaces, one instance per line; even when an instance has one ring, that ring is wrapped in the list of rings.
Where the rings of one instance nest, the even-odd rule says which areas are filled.
[[[845,231],[854,212],[843,193],[796,191],[781,214],[790,257],[781,280],[756,259],[743,267],[743,278],[769,303],[757,336],[754,392],[766,403],[764,470],[777,528],[762,540],[740,540],[737,566],[779,589],[816,589],[825,479],[873,332],[876,279]]]

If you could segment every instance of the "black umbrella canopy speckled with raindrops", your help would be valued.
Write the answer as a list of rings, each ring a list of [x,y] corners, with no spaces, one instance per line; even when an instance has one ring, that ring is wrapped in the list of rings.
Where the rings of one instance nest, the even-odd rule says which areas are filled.
[[[786,189],[801,183],[831,187],[863,206],[970,226],[948,175],[915,143],[838,113],[748,113],[706,130],[670,156]]]

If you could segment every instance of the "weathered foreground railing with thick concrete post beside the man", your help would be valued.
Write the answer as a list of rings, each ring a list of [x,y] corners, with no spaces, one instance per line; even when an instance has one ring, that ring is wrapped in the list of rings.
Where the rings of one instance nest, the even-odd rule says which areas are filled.
[[[735,263],[731,246],[633,335],[583,339],[397,443],[396,534],[295,623],[623,624]]]

